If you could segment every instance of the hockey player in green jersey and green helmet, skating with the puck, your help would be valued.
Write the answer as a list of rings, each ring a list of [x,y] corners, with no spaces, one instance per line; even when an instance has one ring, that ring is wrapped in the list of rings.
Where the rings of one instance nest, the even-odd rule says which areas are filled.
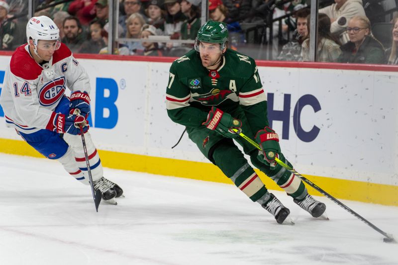
[[[227,48],[228,30],[223,22],[209,20],[199,29],[195,49],[175,60],[170,68],[166,101],[169,117],[186,126],[189,138],[252,201],[274,215],[278,223],[290,220],[290,211],[248,164],[271,177],[294,202],[319,217],[324,203],[308,194],[304,183],[275,162],[275,155],[292,166],[279,146],[278,134],[267,118],[267,97],[255,61]],[[256,139],[262,151],[231,131],[241,130]],[[274,155],[275,154],[275,155]]]

